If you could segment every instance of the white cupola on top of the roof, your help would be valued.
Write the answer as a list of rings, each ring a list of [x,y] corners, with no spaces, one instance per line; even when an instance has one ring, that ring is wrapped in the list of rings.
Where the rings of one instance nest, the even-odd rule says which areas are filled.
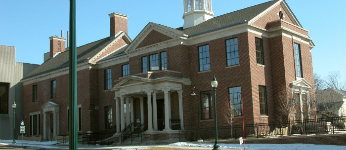
[[[214,17],[212,0],[184,0],[184,28],[196,26]]]

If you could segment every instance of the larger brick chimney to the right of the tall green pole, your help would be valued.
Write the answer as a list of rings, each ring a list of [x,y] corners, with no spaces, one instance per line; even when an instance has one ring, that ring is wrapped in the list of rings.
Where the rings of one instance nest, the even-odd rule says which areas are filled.
[[[117,12],[109,14],[111,37],[114,37],[121,31],[128,34],[128,17],[129,16]]]

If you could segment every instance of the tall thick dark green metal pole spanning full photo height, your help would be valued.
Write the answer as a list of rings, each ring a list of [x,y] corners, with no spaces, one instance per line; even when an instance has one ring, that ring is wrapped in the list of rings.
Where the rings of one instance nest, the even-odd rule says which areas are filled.
[[[69,149],[78,149],[77,135],[77,46],[76,46],[76,0],[70,0],[70,116]]]

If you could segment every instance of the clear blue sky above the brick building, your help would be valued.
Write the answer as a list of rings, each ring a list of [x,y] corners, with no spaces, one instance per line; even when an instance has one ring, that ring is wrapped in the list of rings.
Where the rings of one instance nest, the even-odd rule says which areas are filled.
[[[109,16],[129,16],[129,36],[134,39],[148,24],[172,28],[183,25],[183,0],[76,0],[77,46],[109,36]],[[268,0],[213,0],[215,16]],[[315,43],[314,73],[339,71],[346,76],[346,0],[286,0]],[[16,47],[16,61],[43,63],[49,37],[69,30],[69,0],[0,0],[0,45]]]

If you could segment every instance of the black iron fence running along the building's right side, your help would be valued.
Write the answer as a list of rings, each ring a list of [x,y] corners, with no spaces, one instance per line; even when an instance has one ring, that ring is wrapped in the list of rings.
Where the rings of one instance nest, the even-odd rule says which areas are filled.
[[[292,136],[295,134],[337,134],[346,133],[346,117],[313,117],[311,119],[245,124],[246,137],[267,138]],[[219,139],[239,138],[243,125],[217,127]],[[215,138],[215,127],[200,130],[179,130],[179,141],[197,141]]]

